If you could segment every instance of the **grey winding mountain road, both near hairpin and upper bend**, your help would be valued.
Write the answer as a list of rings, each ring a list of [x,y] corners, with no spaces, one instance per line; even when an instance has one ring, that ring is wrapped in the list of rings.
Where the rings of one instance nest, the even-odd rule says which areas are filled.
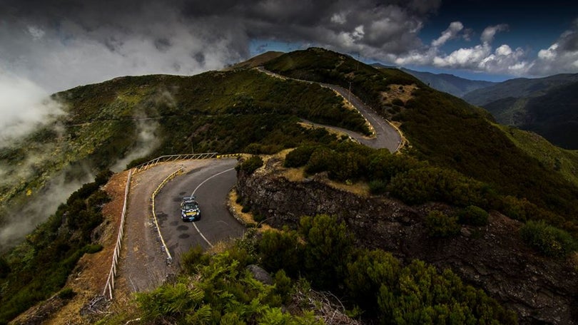
[[[264,68],[259,68],[259,71],[275,78],[288,79]],[[318,84],[348,100],[372,125],[375,137],[368,138],[330,125],[323,127],[347,133],[371,148],[387,148],[392,153],[400,148],[402,138],[399,131],[353,93],[339,86]],[[133,176],[119,264],[117,292],[121,296],[158,287],[171,274],[177,273],[182,254],[191,247],[200,245],[208,249],[217,242],[243,235],[243,225],[230,215],[226,207],[228,193],[236,182],[236,163],[231,158],[164,162]],[[168,175],[181,168],[183,173],[169,181],[156,196],[156,229],[151,211],[151,194]],[[197,222],[181,220],[180,202],[190,195],[195,195],[201,205],[201,220]],[[172,264],[168,263],[171,259],[168,259],[163,243],[168,247]]]

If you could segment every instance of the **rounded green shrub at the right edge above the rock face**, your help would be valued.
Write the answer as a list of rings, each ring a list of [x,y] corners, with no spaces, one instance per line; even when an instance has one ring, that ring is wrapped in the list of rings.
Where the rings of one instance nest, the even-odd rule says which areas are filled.
[[[570,234],[543,221],[527,222],[519,229],[519,234],[526,244],[549,257],[567,257],[578,249]]]

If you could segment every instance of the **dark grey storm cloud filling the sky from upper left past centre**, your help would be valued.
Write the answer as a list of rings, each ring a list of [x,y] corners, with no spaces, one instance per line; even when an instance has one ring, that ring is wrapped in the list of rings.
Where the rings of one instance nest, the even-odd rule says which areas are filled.
[[[86,65],[81,70],[101,71],[101,78],[88,73],[69,83],[62,76],[57,86],[66,87],[111,78],[112,73],[171,73],[176,72],[171,71],[174,66],[186,67],[181,73],[218,68],[246,58],[251,38],[384,58],[420,46],[417,33],[422,21],[439,6],[439,0],[4,0],[0,24],[9,33],[0,38],[5,44],[0,64],[11,70],[28,66],[38,73],[44,66],[62,64],[43,54],[60,56],[66,51],[62,56],[74,55],[66,61]],[[152,53],[148,58],[143,56],[146,51]],[[200,51],[205,60],[198,60]],[[181,53],[188,55],[179,57]],[[46,79],[39,82],[54,86]]]

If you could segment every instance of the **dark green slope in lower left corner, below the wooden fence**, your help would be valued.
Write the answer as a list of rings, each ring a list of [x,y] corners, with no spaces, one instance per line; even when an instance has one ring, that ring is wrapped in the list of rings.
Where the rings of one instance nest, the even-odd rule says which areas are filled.
[[[103,221],[108,195],[100,190],[110,172],[83,185],[49,220],[0,259],[0,324],[59,292],[83,254],[102,249],[93,242],[93,229]],[[66,290],[61,296],[71,296]]]

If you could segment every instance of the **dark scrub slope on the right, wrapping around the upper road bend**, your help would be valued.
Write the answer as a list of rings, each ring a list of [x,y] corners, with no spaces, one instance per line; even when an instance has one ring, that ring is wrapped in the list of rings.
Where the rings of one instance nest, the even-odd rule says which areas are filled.
[[[295,51],[265,67],[285,76],[344,87],[351,82],[353,93],[385,118],[401,123],[411,145],[394,158],[383,153],[381,158],[373,157],[373,164],[367,155],[353,150],[349,154],[354,157],[339,168],[328,158],[348,153],[338,148],[316,149],[301,164],[306,172],[327,170],[335,180],[365,178],[375,194],[388,192],[409,204],[439,200],[499,210],[522,222],[544,220],[578,238],[578,186],[575,177],[569,176],[578,163],[574,152],[560,151],[554,158],[544,158],[518,133],[512,132],[517,135],[512,140],[512,134],[507,135],[485,110],[435,91],[397,69],[378,70],[332,51]],[[397,84],[417,87],[405,103],[386,105],[382,92]],[[301,155],[298,159],[288,156],[288,166],[293,159],[303,162],[307,158],[303,153],[310,150],[300,149],[295,153]],[[364,166],[382,170],[375,174],[379,169]]]

